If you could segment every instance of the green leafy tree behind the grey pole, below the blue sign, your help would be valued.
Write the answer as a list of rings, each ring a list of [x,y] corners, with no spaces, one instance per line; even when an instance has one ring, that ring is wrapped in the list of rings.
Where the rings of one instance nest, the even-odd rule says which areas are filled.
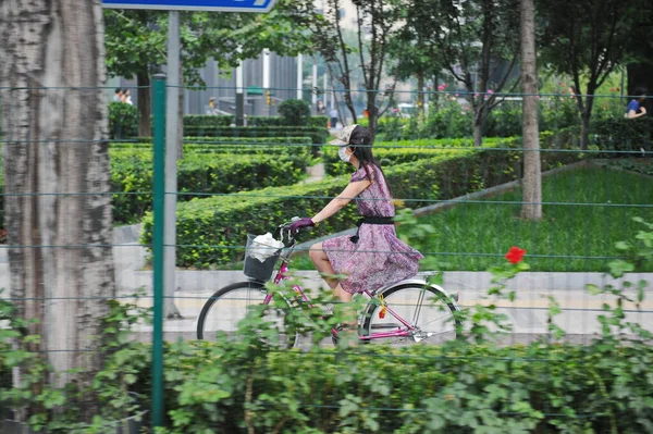
[[[168,13],[106,10],[109,75],[136,78],[140,136],[150,136],[150,76],[167,63]],[[257,58],[264,48],[295,55],[306,50],[303,16],[295,2],[280,0],[267,14],[185,12],[180,16],[184,85],[204,86],[199,70],[210,59],[221,69]]]

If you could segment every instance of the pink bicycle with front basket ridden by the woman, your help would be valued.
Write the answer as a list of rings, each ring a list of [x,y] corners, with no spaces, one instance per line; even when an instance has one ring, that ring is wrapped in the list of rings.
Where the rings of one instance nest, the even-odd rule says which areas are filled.
[[[269,305],[273,294],[266,288],[275,269],[275,263],[281,259],[276,269],[273,283],[279,285],[288,277],[288,261],[296,245],[294,234],[291,234],[291,222],[281,224],[275,234],[284,244],[284,248],[274,251],[272,256],[260,262],[245,256],[244,273],[247,281],[238,282],[217,290],[204,305],[197,322],[197,337],[207,339],[222,331],[233,333],[236,324],[245,318],[255,305]],[[276,238],[276,237],[275,237]],[[249,250],[252,236],[248,235],[246,251]],[[424,277],[433,272],[418,273],[414,278],[408,278],[370,292],[365,296],[369,298],[362,312],[358,314],[358,338],[364,343],[372,340],[382,342],[434,342],[441,343],[456,338],[461,331],[461,322],[456,315],[460,309],[454,297],[442,287],[430,284]],[[310,299],[299,285],[293,285],[298,299],[309,303]],[[429,301],[424,303],[424,301]],[[283,298],[287,309],[294,309],[292,301]],[[266,320],[272,321],[281,331],[283,328],[283,309],[267,309]],[[407,320],[406,318],[411,318]],[[283,331],[282,331],[283,332]],[[293,347],[297,343],[297,334],[287,334],[282,345]],[[337,330],[332,330],[334,344],[337,343]]]

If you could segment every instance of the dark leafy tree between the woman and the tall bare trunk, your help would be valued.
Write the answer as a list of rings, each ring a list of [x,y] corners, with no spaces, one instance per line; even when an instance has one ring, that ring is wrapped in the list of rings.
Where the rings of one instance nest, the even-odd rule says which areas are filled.
[[[467,89],[475,145],[481,146],[485,120],[503,101],[497,94],[518,85],[519,0],[414,0],[408,17],[430,55]]]

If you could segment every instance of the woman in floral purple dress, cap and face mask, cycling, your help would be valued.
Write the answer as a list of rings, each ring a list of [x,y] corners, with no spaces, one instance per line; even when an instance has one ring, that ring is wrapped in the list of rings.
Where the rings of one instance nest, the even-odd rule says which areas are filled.
[[[354,294],[375,290],[417,273],[422,255],[403,243],[395,233],[395,208],[383,171],[372,156],[372,135],[360,125],[345,127],[330,145],[338,146],[341,160],[352,163],[356,172],[349,184],[312,218],[291,225],[296,233],[315,226],[356,199],[358,222],[355,236],[338,236],[310,248],[310,259],[335,296],[344,302]],[[337,280],[333,276],[344,275]]]

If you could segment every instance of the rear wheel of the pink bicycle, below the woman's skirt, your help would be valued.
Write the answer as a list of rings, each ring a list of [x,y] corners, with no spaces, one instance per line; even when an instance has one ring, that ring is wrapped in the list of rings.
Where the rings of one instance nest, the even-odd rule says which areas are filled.
[[[458,308],[436,285],[406,283],[392,286],[377,295],[383,296],[389,311],[381,318],[381,306],[368,305],[364,313],[362,335],[373,336],[399,330],[408,331],[409,335],[374,338],[369,342],[440,344],[455,339],[460,333],[461,324],[459,319],[454,315]],[[390,310],[408,322],[415,330],[411,331],[405,326]]]

